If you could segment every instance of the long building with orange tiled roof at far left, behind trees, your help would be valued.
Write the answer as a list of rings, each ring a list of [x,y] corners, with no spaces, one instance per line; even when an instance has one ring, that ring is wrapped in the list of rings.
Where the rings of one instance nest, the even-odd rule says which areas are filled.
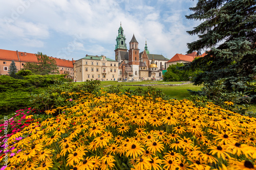
[[[22,69],[24,67],[24,64],[26,64],[27,62],[37,63],[38,61],[36,55],[37,54],[0,49],[0,75],[8,75],[8,69],[12,60],[14,60],[18,70]],[[68,77],[73,78],[74,61],[54,57],[50,58],[53,58],[56,61],[59,74],[67,74],[69,75]]]

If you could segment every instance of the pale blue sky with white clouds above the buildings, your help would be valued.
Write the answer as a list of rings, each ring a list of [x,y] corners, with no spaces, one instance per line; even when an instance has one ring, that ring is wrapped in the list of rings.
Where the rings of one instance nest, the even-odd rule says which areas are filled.
[[[196,41],[186,31],[192,0],[12,0],[0,2],[0,49],[78,60],[88,55],[115,59],[120,22],[127,48],[133,34],[140,52],[170,59]]]

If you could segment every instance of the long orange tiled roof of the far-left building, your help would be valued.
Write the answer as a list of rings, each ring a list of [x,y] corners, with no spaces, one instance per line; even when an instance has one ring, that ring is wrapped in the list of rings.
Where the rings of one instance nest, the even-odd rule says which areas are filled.
[[[18,57],[19,57],[19,59],[18,59]],[[73,68],[73,62],[70,60],[54,58],[54,57],[50,57],[50,58],[52,58],[56,61],[57,66]],[[10,50],[2,50],[2,49],[0,49],[0,60],[14,60],[14,61],[32,62],[32,63],[38,62],[36,54],[10,51]]]

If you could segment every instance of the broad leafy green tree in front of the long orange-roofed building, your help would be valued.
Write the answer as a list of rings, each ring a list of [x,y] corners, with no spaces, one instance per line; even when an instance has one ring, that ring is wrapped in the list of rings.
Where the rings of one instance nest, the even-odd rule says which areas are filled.
[[[26,63],[24,64],[25,70],[31,70],[32,73],[36,75],[49,75],[58,73],[57,63],[54,59],[48,57],[47,55],[43,55],[42,53],[38,52],[37,55],[38,63]]]

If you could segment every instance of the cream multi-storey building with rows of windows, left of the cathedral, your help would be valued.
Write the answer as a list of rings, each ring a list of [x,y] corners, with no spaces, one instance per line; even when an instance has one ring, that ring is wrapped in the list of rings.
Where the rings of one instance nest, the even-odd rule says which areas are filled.
[[[89,56],[75,61],[75,80],[116,81],[118,78],[118,62],[105,56]]]

